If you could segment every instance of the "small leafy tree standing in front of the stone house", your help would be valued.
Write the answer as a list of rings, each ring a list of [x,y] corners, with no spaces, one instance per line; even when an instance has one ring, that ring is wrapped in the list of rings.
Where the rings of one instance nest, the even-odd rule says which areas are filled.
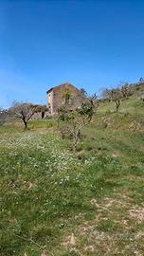
[[[65,106],[58,109],[59,130],[63,137],[73,139],[73,152],[81,136],[81,129],[87,125],[94,115],[95,102],[93,99],[85,101],[80,108],[71,110]]]

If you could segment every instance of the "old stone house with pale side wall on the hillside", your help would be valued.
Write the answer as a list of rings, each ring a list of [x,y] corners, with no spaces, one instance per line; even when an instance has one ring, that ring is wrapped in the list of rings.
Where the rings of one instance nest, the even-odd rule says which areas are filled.
[[[81,90],[69,82],[50,88],[46,94],[46,106],[50,115],[54,115],[57,109],[64,104],[69,105],[71,109],[75,109],[80,107],[83,101],[86,101],[86,97]]]

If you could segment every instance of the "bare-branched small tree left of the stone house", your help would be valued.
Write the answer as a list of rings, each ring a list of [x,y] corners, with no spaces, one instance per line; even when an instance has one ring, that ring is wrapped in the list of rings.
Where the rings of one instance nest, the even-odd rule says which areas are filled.
[[[32,118],[34,113],[37,111],[38,105],[31,103],[20,103],[16,102],[9,111],[16,116],[18,119],[21,119],[24,123],[24,130],[27,130],[27,122]]]

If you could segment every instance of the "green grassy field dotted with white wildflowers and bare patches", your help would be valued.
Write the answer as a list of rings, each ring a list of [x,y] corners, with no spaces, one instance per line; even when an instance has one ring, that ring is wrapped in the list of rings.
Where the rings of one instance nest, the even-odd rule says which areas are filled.
[[[0,127],[1,256],[144,255],[144,105],[114,109],[76,155],[53,120]]]

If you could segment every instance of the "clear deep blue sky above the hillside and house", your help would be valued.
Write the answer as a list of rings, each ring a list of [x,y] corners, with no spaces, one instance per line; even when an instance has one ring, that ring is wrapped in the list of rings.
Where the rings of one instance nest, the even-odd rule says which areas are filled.
[[[143,0],[0,0],[0,107],[144,77]]]

